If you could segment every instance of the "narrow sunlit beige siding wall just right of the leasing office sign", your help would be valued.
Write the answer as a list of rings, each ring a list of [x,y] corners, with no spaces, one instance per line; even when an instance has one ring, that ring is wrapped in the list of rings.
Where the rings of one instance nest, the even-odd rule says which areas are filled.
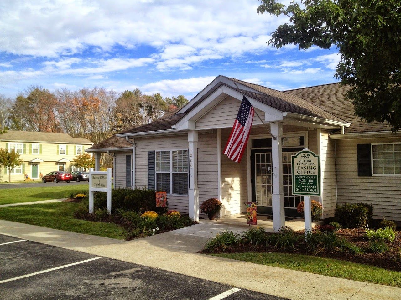
[[[336,209],[336,148],[327,130],[318,130],[320,135],[320,171],[322,174],[323,218],[334,217]]]

